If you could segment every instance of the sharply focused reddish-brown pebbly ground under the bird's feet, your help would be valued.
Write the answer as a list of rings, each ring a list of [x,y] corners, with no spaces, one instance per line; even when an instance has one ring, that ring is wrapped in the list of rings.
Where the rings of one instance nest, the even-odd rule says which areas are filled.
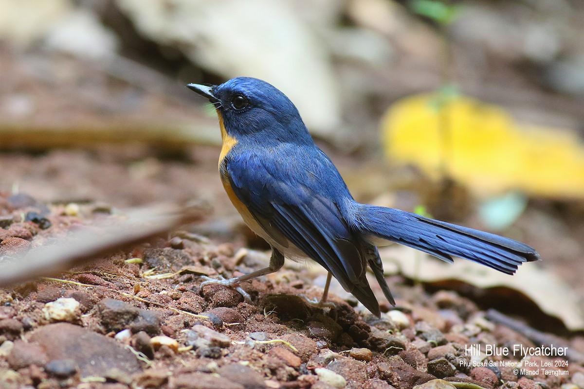
[[[103,216],[102,205],[46,206],[22,194],[3,194],[0,206],[4,261],[99,215],[119,217]],[[234,288],[200,288],[201,275],[241,275],[267,255],[178,232],[0,290],[0,387],[584,387],[584,368],[562,358],[537,358],[551,366],[546,374],[500,363],[520,356],[473,367],[485,355],[465,351],[472,344],[535,345],[471,300],[426,293],[400,276],[391,278],[397,307],[383,302],[381,318],[335,295],[334,307],[311,306],[301,296],[322,289],[307,269],[243,283],[250,301]],[[583,351],[582,342],[558,340]]]

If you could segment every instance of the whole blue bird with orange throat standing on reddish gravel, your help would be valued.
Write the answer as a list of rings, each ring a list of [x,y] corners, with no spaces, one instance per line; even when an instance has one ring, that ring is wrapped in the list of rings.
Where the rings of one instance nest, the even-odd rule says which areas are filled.
[[[536,261],[536,250],[502,236],[399,209],[356,202],[328,156],[312,140],[294,104],[269,83],[248,77],[221,85],[187,85],[214,104],[223,146],[221,181],[245,223],[272,247],[269,267],[223,285],[280,269],[284,257],[311,258],[371,313],[380,316],[366,278],[371,268],[395,305],[377,246],[392,242],[453,262],[466,258],[506,274]]]

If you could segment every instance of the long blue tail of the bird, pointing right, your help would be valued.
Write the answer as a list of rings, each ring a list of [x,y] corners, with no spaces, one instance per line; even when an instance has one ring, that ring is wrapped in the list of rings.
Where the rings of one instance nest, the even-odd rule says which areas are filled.
[[[523,262],[539,260],[527,244],[399,209],[359,204],[353,218],[354,226],[377,246],[383,246],[380,240],[390,240],[447,262],[455,255],[514,274]]]

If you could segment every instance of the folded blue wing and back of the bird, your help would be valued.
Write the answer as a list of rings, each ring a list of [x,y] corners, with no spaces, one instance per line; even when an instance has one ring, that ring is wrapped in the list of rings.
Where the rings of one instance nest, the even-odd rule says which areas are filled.
[[[293,243],[345,290],[373,296],[365,278],[367,243],[350,230],[335,202],[339,194],[350,197],[349,191],[321,150],[278,146],[261,158],[234,153],[222,170],[235,195],[274,240],[284,247],[283,238]]]

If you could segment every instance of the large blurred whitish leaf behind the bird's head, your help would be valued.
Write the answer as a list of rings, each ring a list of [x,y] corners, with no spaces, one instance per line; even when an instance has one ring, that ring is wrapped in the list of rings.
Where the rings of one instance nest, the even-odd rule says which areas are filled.
[[[340,99],[328,48],[290,1],[116,2],[151,40],[180,48],[226,79],[251,76],[272,83],[317,134],[338,129]]]

